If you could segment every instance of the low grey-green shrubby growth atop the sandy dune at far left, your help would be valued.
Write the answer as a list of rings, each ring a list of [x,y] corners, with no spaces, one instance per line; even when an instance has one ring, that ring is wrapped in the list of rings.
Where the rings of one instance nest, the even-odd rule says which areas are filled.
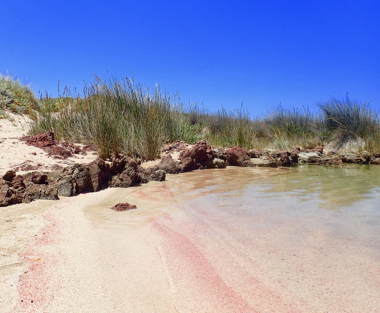
[[[6,112],[34,115],[38,102],[32,89],[21,80],[0,74],[0,116]]]

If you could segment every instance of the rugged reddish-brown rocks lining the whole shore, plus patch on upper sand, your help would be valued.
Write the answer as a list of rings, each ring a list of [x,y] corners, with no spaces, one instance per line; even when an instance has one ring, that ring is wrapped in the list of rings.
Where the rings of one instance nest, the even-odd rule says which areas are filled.
[[[85,149],[55,141],[52,132],[21,139],[28,145],[38,146],[58,157],[66,157],[70,153],[86,153]],[[59,196],[71,197],[107,187],[131,187],[149,181],[163,181],[167,173],[177,174],[198,169],[342,163],[380,164],[380,156],[373,156],[366,151],[359,154],[336,154],[324,151],[323,147],[295,148],[291,151],[247,151],[239,147],[212,149],[206,140],[195,145],[177,141],[164,146],[161,160],[148,168],[142,167],[136,159],[118,157],[111,162],[98,158],[87,164],[74,164],[50,172],[31,171],[16,175],[13,170],[7,171],[0,178],[0,206],[28,203],[35,199],[57,200]]]

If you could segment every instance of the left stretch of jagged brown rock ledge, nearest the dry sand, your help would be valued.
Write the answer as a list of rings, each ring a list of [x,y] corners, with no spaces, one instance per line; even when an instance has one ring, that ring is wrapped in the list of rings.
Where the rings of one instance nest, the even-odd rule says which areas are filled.
[[[96,159],[48,173],[16,175],[7,171],[0,178],[0,206],[28,203],[35,199],[57,200],[106,187],[131,187],[148,181],[165,180],[165,171],[144,169],[132,158],[117,158],[111,163]]]

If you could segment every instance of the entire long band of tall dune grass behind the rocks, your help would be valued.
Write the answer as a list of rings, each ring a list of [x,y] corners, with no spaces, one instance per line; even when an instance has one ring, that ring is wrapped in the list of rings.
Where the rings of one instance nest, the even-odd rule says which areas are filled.
[[[348,97],[318,103],[316,113],[278,106],[252,118],[242,105],[216,112],[186,107],[158,85],[150,90],[133,78],[96,76],[83,96],[65,88],[58,99],[40,102],[32,133],[51,130],[60,140],[92,144],[103,159],[122,153],[152,160],[165,142],[201,139],[214,147],[277,150],[361,140],[363,149],[380,153],[378,112]]]

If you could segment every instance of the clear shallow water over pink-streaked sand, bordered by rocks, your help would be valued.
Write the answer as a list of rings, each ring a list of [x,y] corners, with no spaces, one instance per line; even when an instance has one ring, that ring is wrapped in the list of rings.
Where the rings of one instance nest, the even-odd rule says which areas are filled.
[[[179,311],[376,312],[379,195],[377,166],[229,167],[115,189],[87,215],[155,234]]]

